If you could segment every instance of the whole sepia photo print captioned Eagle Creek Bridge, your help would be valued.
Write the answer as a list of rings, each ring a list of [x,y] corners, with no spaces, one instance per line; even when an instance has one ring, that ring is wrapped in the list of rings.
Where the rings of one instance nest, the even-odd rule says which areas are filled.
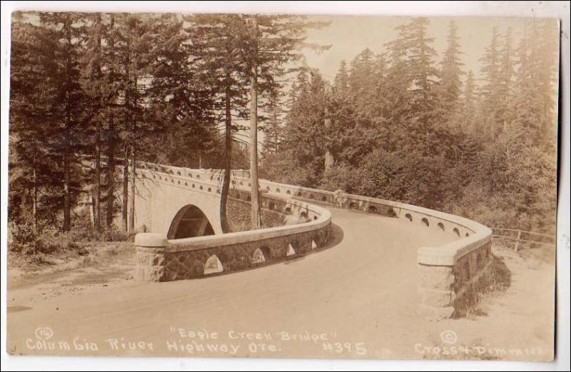
[[[560,19],[10,17],[11,356],[555,359]]]

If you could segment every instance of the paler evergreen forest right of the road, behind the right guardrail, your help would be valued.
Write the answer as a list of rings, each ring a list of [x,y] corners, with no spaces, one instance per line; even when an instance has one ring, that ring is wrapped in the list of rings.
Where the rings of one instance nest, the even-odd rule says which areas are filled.
[[[343,61],[333,84],[300,71],[262,176],[555,233],[555,22],[494,29],[481,71],[463,66],[469,41],[454,21],[442,56],[428,24],[413,19],[383,53]]]

